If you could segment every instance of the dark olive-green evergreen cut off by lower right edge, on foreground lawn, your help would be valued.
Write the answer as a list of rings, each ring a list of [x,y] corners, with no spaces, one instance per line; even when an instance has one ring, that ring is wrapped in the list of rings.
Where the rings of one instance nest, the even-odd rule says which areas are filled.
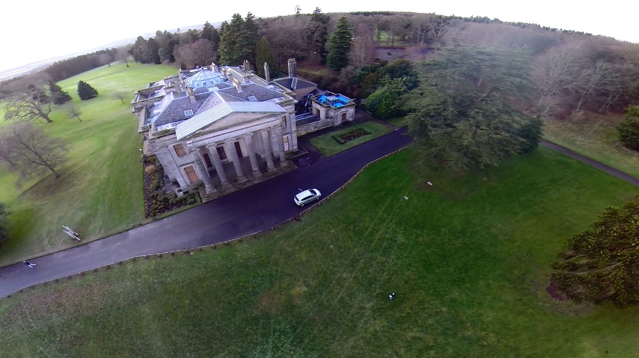
[[[623,208],[610,206],[586,231],[570,238],[552,264],[558,292],[616,306],[639,304],[639,195]]]

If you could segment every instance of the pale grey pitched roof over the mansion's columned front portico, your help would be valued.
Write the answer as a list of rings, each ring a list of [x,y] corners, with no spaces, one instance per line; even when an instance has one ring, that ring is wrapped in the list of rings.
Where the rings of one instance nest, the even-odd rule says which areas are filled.
[[[222,102],[208,111],[196,114],[189,120],[183,121],[175,127],[175,135],[181,139],[194,134],[198,130],[219,121],[231,113],[286,113],[279,104],[272,102]]]

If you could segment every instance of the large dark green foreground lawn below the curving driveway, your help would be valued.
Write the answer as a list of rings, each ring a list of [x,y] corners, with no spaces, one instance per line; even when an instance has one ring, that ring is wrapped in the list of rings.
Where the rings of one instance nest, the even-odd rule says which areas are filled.
[[[411,155],[264,238],[0,300],[0,357],[636,356],[639,309],[544,290],[564,240],[636,187],[546,148],[457,180]]]

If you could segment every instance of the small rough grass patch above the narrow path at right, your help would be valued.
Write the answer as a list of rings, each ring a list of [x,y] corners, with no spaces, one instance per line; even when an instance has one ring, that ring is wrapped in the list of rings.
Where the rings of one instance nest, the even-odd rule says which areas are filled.
[[[615,128],[620,121],[622,116],[612,115],[589,121],[546,120],[544,138],[639,178],[639,153],[621,145]]]

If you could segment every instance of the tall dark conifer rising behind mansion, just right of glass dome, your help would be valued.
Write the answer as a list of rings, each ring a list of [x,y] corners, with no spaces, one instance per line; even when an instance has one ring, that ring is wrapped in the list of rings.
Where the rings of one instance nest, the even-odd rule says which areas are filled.
[[[231,22],[224,26],[220,37],[220,62],[222,65],[242,65],[249,59],[252,49],[247,48],[245,21],[239,13],[233,14]]]

